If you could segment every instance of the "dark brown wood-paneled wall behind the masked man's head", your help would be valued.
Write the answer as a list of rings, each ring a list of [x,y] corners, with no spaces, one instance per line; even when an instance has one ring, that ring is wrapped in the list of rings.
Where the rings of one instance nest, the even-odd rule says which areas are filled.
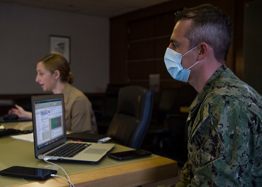
[[[219,7],[232,19],[233,43],[226,65],[241,78],[241,57],[236,55],[239,55],[242,47],[239,45],[242,42],[241,35],[237,32],[242,24],[238,15],[243,15],[241,7],[244,1],[174,0],[111,18],[110,83],[149,87],[149,74],[160,74],[161,89],[188,84],[172,79],[163,57],[175,25],[174,13],[184,7],[204,3]],[[240,19],[243,20],[243,16]]]

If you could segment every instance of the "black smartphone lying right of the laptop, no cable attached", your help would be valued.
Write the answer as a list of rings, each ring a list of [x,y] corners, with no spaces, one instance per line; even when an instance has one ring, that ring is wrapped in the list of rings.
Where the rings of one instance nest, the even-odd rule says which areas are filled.
[[[126,159],[131,159],[131,158],[149,156],[149,155],[152,155],[152,153],[149,151],[137,149],[137,150],[131,150],[131,151],[109,153],[107,156],[118,159],[118,160],[126,160]]]

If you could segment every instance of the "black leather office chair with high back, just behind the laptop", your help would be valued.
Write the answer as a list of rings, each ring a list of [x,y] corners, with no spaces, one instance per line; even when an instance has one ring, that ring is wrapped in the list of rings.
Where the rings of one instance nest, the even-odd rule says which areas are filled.
[[[154,93],[141,86],[119,90],[116,113],[107,129],[113,142],[139,149],[148,129]]]

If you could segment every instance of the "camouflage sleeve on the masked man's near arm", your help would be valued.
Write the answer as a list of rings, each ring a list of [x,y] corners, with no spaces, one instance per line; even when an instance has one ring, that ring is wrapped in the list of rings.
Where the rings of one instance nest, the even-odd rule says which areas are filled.
[[[191,186],[252,186],[249,156],[256,136],[250,133],[246,105],[232,97],[217,96],[201,115],[203,120],[192,138]]]

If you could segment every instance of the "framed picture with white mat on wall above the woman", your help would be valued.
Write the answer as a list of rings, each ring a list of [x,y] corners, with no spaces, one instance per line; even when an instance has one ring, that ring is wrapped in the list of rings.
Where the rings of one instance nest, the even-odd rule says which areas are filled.
[[[49,53],[61,54],[70,63],[70,37],[49,35]]]

